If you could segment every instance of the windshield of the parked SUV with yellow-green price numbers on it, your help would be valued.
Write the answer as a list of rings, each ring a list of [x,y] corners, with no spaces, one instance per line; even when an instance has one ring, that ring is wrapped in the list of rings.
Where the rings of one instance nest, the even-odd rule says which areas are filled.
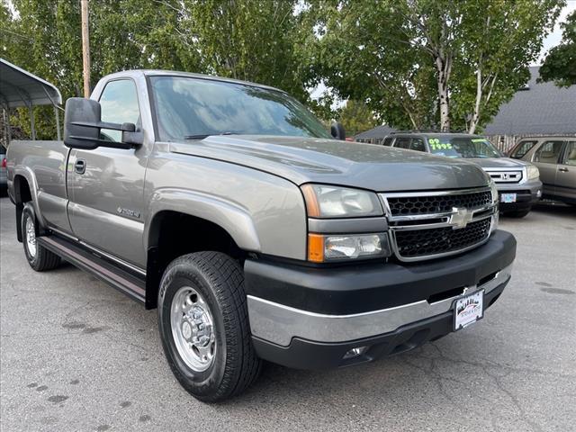
[[[478,137],[428,138],[430,153],[446,157],[502,157],[488,139]]]

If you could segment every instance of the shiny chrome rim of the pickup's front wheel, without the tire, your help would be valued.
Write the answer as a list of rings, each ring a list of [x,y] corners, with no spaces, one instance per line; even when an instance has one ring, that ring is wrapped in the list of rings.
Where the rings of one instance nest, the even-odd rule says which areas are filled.
[[[216,355],[216,335],[210,308],[202,295],[183,286],[172,299],[170,327],[178,354],[193,371],[208,369]]]

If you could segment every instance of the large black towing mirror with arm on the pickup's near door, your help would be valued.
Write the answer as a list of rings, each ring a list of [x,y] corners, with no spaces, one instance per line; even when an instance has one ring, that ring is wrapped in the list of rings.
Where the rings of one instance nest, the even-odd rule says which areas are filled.
[[[100,130],[121,130],[122,142],[100,139]],[[98,147],[132,148],[142,144],[142,132],[134,123],[102,121],[100,103],[84,97],[71,97],[64,112],[64,145],[69,148],[94,150]]]

